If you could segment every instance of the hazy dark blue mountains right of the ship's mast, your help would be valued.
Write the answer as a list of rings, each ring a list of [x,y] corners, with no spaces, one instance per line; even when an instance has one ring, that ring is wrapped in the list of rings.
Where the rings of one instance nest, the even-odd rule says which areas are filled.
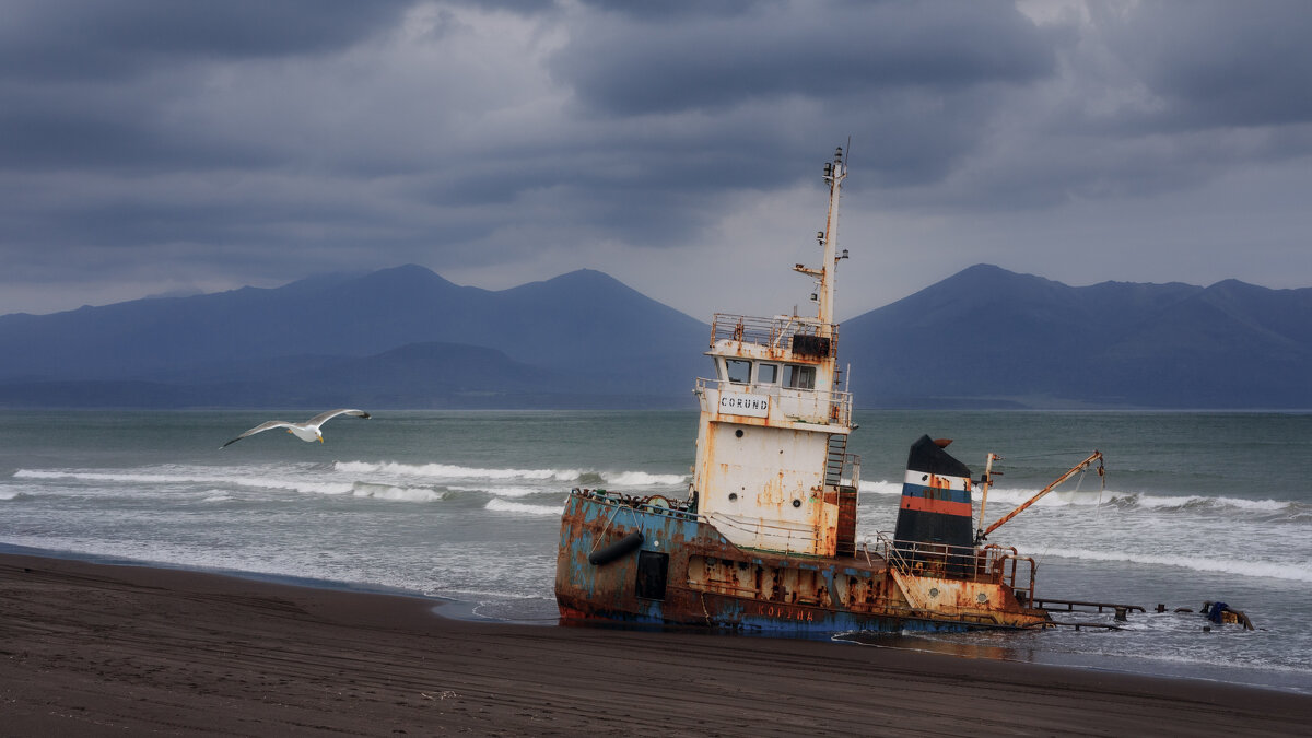
[[[976,265],[841,339],[866,406],[1312,407],[1312,289],[1071,288]]]

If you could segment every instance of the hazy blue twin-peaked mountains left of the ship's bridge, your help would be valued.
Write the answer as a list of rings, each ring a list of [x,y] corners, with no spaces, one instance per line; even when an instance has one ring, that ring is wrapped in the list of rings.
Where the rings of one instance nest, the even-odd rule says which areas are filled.
[[[0,403],[687,406],[706,336],[601,272],[491,292],[409,265],[0,316]]]

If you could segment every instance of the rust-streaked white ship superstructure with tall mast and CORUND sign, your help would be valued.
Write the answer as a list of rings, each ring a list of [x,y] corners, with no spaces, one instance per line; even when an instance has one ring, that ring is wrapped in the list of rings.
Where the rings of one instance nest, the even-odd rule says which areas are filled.
[[[698,380],[701,422],[693,491],[698,512],[735,545],[815,555],[850,555],[859,460],[846,453],[851,395],[838,390],[833,272],[840,259],[842,148],[825,164],[829,213],[817,234],[816,316],[718,314],[707,356],[714,380]]]

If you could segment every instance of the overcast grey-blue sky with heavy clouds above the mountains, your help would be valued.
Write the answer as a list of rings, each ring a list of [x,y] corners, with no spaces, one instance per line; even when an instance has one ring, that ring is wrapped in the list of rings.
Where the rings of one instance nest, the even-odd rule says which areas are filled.
[[[1308,39],[1304,0],[4,0],[0,313],[415,263],[774,314],[849,137],[840,318],[977,263],[1312,286]]]

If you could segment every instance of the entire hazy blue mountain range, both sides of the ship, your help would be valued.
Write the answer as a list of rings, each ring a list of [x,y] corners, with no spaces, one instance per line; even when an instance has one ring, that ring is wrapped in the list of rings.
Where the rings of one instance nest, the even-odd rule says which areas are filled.
[[[0,407],[694,407],[708,336],[601,272],[493,292],[407,265],[0,316]],[[838,348],[862,407],[1312,407],[1312,289],[976,265]]]

